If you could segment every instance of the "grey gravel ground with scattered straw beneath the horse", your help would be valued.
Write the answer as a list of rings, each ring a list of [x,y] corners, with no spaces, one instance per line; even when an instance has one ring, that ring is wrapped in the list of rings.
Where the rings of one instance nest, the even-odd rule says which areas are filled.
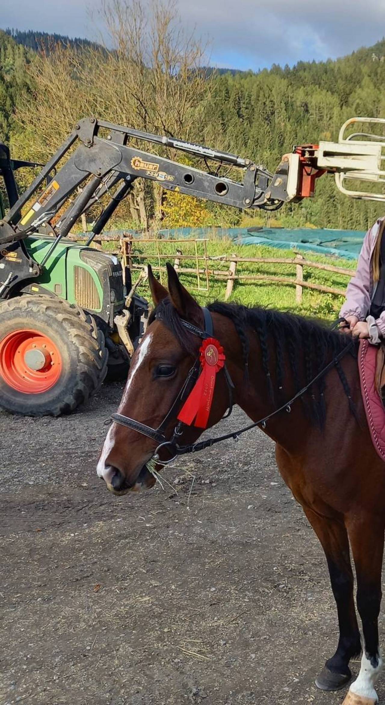
[[[121,391],[0,412],[1,705],[340,704],[313,685],[337,641],[324,557],[272,442],[180,460],[177,495],[115,498],[95,466]]]

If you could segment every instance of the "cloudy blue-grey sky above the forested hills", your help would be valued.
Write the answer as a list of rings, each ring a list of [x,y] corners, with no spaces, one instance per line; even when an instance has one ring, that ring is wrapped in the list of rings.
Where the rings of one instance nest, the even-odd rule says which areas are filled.
[[[98,0],[93,0],[93,5]],[[182,25],[210,44],[210,64],[258,71],[322,61],[385,36],[385,0],[176,0]],[[0,27],[96,37],[90,0],[0,0]]]

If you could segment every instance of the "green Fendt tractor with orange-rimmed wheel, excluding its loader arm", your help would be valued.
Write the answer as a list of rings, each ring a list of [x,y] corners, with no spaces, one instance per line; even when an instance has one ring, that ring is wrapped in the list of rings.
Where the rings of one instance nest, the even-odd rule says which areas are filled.
[[[21,166],[39,165],[11,160],[0,143],[1,222],[4,200],[11,210],[18,203]],[[113,255],[58,242],[46,226],[0,245],[0,406],[30,416],[71,412],[106,377],[127,376],[147,315],[130,269]]]

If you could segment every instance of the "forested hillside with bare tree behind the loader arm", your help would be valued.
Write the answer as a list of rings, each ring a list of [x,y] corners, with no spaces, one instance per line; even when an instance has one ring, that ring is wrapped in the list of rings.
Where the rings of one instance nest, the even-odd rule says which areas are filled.
[[[172,6],[156,3],[151,15],[146,7],[105,4],[105,47],[56,36],[47,50],[48,39],[36,32],[0,32],[0,139],[11,142],[15,157],[45,161],[79,117],[94,114],[273,170],[294,144],[336,140],[349,117],[385,116],[385,39],[336,61],[213,71],[199,42],[175,25]],[[187,199],[138,180],[120,219],[142,227],[251,224],[250,213]],[[284,207],[277,218],[289,227],[363,230],[382,211],[381,204],[343,197],[330,177],[320,180],[314,200]],[[256,212],[253,222],[268,217]]]

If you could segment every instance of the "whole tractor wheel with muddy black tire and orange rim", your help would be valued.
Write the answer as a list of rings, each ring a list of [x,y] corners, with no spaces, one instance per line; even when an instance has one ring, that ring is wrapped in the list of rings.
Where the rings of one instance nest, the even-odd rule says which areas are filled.
[[[66,301],[23,295],[0,305],[0,406],[25,416],[68,414],[100,388],[104,336]]]

